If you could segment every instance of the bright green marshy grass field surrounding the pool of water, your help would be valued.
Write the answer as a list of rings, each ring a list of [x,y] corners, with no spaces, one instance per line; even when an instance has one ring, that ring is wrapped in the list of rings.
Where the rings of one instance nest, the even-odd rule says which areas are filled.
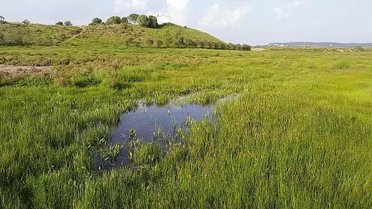
[[[372,207],[372,51],[133,47],[100,30],[0,47],[0,64],[54,65],[1,75],[0,208]],[[143,144],[96,169],[91,147],[138,100],[236,94],[166,154]]]

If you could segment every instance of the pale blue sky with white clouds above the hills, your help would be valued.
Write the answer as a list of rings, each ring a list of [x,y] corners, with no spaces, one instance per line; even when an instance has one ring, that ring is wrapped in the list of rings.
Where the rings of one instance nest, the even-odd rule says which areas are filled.
[[[87,25],[131,13],[170,16],[240,44],[372,42],[371,0],[0,0],[0,15],[15,22]]]

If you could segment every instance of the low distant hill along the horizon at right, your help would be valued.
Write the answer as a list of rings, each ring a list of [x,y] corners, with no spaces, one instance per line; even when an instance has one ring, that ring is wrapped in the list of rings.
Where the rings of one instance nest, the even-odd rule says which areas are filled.
[[[362,46],[372,48],[372,43],[337,43],[337,42],[286,42],[270,43],[257,47],[291,47],[291,48],[355,48]]]

